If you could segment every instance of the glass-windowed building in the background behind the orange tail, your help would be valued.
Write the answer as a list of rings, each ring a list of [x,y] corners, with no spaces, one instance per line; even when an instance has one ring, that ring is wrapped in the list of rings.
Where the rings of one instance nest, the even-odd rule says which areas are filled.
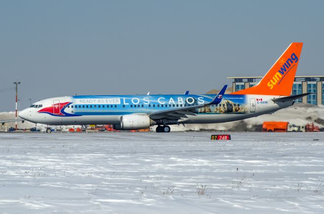
[[[251,77],[227,77],[233,79],[232,87],[228,88],[227,93],[237,92],[256,85],[262,76]],[[217,94],[217,90],[211,90],[207,94]],[[293,84],[292,95],[303,93],[313,93],[307,97],[299,98],[297,103],[309,103],[313,105],[324,105],[324,76],[296,76]]]

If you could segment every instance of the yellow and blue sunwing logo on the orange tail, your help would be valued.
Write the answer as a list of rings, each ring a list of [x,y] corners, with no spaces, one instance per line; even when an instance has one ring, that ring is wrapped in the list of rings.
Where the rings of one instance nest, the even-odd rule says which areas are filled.
[[[291,57],[288,58],[288,60],[286,60],[285,58],[281,58],[279,61],[279,63],[281,64],[281,68],[272,76],[272,79],[270,79],[270,81],[267,84],[268,87],[270,89],[273,89],[274,85],[280,84],[282,79],[284,79],[286,74],[296,65],[297,62],[298,57],[295,53],[293,53]]]

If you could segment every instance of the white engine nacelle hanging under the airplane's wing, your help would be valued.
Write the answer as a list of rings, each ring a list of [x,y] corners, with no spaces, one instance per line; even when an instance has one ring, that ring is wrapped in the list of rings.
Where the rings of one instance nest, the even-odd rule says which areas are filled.
[[[155,124],[156,122],[146,115],[129,114],[120,117],[120,130],[147,129]]]

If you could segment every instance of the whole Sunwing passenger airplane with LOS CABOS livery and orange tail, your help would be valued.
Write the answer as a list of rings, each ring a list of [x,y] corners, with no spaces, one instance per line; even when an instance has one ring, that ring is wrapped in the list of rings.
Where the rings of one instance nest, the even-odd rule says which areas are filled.
[[[113,124],[115,130],[169,133],[170,125],[220,123],[269,114],[310,93],[291,95],[302,42],[293,42],[251,88],[217,95],[99,95],[55,97],[33,103],[19,117],[48,125]],[[51,133],[49,127],[46,131]]]

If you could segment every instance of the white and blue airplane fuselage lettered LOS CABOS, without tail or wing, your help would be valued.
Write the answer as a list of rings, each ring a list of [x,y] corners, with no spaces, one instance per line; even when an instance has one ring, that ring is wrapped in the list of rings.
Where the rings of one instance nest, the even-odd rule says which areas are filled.
[[[123,115],[177,109],[208,103],[215,95],[73,96],[41,100],[19,113],[23,119],[49,125],[120,124]],[[271,113],[293,101],[275,103],[279,96],[224,95],[217,106],[201,108],[177,123],[219,123]],[[158,121],[157,121],[158,124]],[[175,122],[169,122],[175,124]]]

